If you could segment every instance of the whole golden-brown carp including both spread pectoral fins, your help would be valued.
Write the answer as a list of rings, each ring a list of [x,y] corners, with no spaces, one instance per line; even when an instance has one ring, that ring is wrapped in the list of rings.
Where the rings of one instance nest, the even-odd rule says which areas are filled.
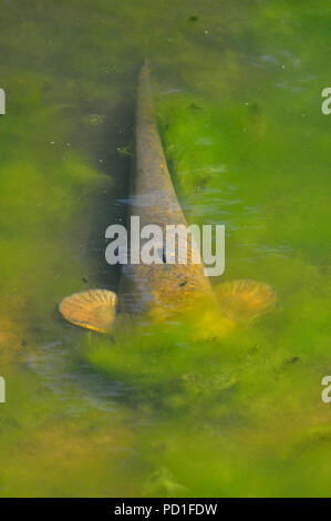
[[[186,234],[187,222],[170,178],[157,130],[149,69],[139,72],[135,130],[135,163],[131,178],[127,228],[131,218],[144,226],[157,225],[162,237],[157,244],[161,263],[132,263],[128,241],[128,264],[123,265],[118,298],[107,289],[89,289],[65,297],[60,313],[70,323],[87,329],[110,333],[115,321],[115,308],[125,314],[147,314],[164,320],[184,314],[194,325],[196,338],[228,333],[242,320],[256,318],[276,303],[270,286],[256,280],[232,280],[217,285],[215,290],[205,276],[205,267],[196,260],[197,246]],[[179,226],[176,251],[187,245],[185,263],[168,262],[165,249],[167,226]],[[139,241],[138,236],[138,241]],[[144,237],[147,238],[147,237]],[[153,241],[155,244],[155,241]],[[175,253],[172,253],[172,255]],[[198,252],[199,256],[199,252]],[[118,303],[118,305],[117,305]]]

